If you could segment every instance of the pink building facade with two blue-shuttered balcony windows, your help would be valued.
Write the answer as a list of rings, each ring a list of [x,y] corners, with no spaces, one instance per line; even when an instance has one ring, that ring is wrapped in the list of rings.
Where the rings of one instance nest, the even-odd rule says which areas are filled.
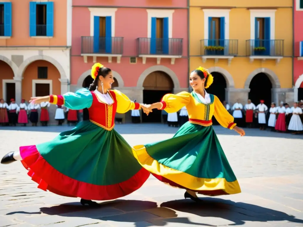
[[[95,62],[138,102],[187,90],[187,18],[186,0],[74,0],[70,90],[88,87]]]

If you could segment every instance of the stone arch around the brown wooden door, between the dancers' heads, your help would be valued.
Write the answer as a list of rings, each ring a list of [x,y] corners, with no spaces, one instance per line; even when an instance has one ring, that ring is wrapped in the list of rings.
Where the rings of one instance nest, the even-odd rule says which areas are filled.
[[[155,71],[165,72],[168,76],[171,77],[171,80],[174,83],[174,89],[180,89],[180,82],[179,82],[177,75],[175,74],[174,71],[172,71],[170,68],[168,68],[164,65],[154,65],[154,66],[151,66],[151,67],[145,69],[145,71],[143,71],[143,73],[140,75],[140,77],[137,81],[137,89],[142,89],[145,78],[149,74],[151,74],[152,72],[155,72]]]

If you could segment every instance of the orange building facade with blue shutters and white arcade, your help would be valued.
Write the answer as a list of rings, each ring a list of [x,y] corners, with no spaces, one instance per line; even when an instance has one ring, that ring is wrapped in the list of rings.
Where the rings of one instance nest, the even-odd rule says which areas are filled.
[[[72,0],[0,1],[0,96],[6,102],[68,91],[71,6]]]

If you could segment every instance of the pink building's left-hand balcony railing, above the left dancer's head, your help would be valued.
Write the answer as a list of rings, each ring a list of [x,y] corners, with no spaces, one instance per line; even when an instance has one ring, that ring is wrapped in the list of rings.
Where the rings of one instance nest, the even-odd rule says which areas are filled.
[[[81,37],[81,54],[123,54],[123,37]]]

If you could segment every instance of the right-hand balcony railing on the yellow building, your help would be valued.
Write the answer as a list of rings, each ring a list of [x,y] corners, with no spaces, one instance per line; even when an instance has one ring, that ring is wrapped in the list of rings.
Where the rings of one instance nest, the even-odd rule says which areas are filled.
[[[284,55],[284,40],[281,39],[246,40],[246,55],[282,57]]]

